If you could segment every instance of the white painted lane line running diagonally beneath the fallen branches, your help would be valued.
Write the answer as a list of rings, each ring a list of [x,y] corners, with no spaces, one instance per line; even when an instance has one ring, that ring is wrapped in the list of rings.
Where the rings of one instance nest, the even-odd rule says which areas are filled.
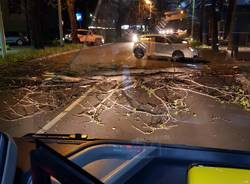
[[[46,123],[37,134],[46,133],[49,129],[55,126],[64,116],[66,116],[75,106],[77,106],[80,102],[82,102],[88,95],[95,89],[95,86],[91,87],[84,95],[80,96],[76,101],[70,104],[63,112],[58,114],[54,119]]]

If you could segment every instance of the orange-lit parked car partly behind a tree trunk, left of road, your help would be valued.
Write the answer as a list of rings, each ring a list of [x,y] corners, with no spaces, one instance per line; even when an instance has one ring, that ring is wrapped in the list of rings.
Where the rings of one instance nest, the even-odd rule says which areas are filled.
[[[88,43],[91,45],[104,44],[104,37],[102,35],[94,34],[91,30],[77,29],[77,36],[81,43]],[[66,42],[72,42],[72,34],[66,34],[64,37]]]

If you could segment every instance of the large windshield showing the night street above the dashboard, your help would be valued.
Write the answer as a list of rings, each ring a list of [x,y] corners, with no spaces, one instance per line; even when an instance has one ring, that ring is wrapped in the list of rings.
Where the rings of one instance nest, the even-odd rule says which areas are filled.
[[[0,131],[250,150],[249,17],[248,0],[1,1]]]

